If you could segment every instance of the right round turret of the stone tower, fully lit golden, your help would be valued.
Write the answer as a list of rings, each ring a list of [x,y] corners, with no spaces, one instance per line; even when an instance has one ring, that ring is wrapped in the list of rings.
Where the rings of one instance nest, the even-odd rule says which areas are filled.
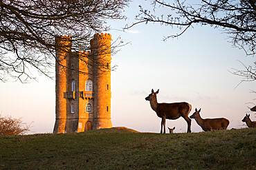
[[[94,62],[93,129],[112,127],[111,123],[111,34],[95,34],[91,40]]]

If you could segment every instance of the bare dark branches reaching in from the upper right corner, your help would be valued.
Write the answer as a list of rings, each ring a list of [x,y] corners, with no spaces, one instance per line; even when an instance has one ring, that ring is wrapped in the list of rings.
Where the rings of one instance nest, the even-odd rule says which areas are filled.
[[[172,28],[177,26],[181,32],[166,36],[165,39],[168,39],[181,36],[192,25],[210,25],[214,28],[222,28],[223,32],[230,35],[232,45],[243,49],[247,55],[255,54],[256,8],[254,0],[202,0],[199,4],[185,0],[175,0],[173,3],[154,0],[152,6],[151,11],[140,6],[136,23],[127,25],[125,29],[139,23],[149,22],[161,23]],[[156,8],[163,8],[163,11],[169,12],[168,14],[155,12]]]

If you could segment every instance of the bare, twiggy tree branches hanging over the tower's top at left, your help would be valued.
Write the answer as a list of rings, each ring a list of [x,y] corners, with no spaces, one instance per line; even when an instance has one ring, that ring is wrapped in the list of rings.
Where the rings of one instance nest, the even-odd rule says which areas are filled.
[[[72,37],[73,52],[90,50],[90,39],[102,29],[102,18],[125,19],[122,8],[128,2],[0,1],[0,80],[11,77],[26,82],[36,78],[35,72],[52,78],[55,50],[60,48],[55,38],[67,34]]]

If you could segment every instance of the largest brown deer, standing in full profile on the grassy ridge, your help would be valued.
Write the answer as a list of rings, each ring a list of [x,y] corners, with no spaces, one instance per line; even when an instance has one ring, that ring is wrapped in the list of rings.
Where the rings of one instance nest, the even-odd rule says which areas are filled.
[[[151,108],[156,111],[156,114],[159,118],[162,118],[161,121],[161,134],[165,134],[165,120],[172,119],[175,120],[179,117],[183,117],[188,123],[188,133],[191,132],[191,119],[188,117],[188,114],[191,111],[191,105],[185,102],[181,103],[157,103],[156,94],[158,94],[159,89],[154,92],[152,89],[151,94],[145,98],[149,100]]]

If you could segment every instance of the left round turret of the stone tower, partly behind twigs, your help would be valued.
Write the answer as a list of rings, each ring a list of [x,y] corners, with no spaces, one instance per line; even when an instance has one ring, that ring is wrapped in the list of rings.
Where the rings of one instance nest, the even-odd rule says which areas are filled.
[[[71,37],[70,36],[57,36],[56,43],[56,64],[55,64],[55,126],[53,133],[64,133],[66,127],[66,58],[71,52]]]

